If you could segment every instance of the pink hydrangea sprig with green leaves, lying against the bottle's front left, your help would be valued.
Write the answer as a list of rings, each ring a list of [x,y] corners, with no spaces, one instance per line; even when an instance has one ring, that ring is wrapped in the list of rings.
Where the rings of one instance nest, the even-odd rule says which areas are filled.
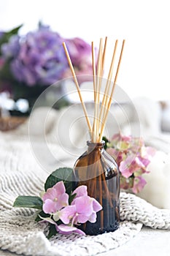
[[[14,202],[14,207],[37,209],[35,221],[49,225],[47,238],[56,233],[85,235],[79,226],[96,222],[102,209],[95,198],[88,196],[87,186],[72,189],[72,175],[72,168],[59,168],[47,178],[40,196],[19,196]]]

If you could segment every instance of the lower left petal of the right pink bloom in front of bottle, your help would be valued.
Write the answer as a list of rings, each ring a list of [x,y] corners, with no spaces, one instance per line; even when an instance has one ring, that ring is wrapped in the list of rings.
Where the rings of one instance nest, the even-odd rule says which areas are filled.
[[[74,214],[76,214],[76,206],[66,206],[59,212],[59,217],[64,224],[69,224]]]

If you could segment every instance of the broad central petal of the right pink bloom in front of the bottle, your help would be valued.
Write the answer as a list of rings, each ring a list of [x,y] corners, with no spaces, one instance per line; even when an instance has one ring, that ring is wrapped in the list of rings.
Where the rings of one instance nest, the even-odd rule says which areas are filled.
[[[75,206],[78,214],[90,216],[93,212],[93,198],[89,196],[77,197]]]

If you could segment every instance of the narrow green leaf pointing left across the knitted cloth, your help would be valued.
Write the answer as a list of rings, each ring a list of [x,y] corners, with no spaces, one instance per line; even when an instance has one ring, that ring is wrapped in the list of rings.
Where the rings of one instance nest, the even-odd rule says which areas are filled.
[[[20,195],[15,199],[14,207],[36,208],[42,210],[42,199],[40,197]]]

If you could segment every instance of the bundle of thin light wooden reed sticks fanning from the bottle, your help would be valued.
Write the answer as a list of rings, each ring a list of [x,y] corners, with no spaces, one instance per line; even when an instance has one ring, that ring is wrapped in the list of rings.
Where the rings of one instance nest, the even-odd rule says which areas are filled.
[[[98,49],[98,58],[97,58],[97,65],[96,65],[96,56],[95,56],[95,50],[94,50],[94,43],[91,42],[91,53],[92,53],[92,67],[93,67],[93,94],[94,94],[94,116],[93,116],[93,125],[90,124],[90,120],[88,117],[87,110],[85,108],[85,103],[82,99],[82,94],[80,91],[80,86],[77,81],[76,74],[74,72],[74,67],[72,65],[72,61],[69,56],[69,52],[66,48],[65,42],[63,42],[63,48],[66,53],[66,58],[69,63],[69,67],[72,72],[72,76],[74,78],[74,83],[77,87],[77,92],[80,97],[80,102],[82,104],[82,109],[85,114],[85,118],[88,124],[88,129],[90,131],[90,137],[91,141],[93,143],[99,143],[102,140],[103,134],[104,134],[104,128],[107,122],[107,116],[109,114],[109,109],[112,105],[112,96],[113,92],[115,90],[115,85],[117,83],[117,76],[118,72],[120,70],[120,62],[123,56],[123,48],[125,44],[125,40],[123,39],[122,48],[120,50],[120,56],[117,62],[117,68],[115,71],[115,78],[112,83],[112,76],[113,76],[113,70],[115,66],[115,56],[117,51],[117,43],[118,40],[115,41],[115,47],[112,54],[112,61],[109,67],[109,74],[107,77],[107,83],[105,85],[104,94],[101,94],[101,80],[104,75],[104,61],[106,56],[106,50],[107,50],[107,37],[104,41],[104,47],[103,47],[103,39],[100,39],[99,43],[99,49]],[[102,100],[100,100],[102,98]]]

